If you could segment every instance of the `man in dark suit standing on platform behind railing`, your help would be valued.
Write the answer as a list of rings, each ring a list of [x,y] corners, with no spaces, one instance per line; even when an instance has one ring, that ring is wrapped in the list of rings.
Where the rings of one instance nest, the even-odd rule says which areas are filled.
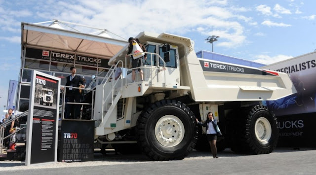
[[[84,88],[83,81],[81,76],[76,75],[77,69],[75,67],[70,68],[71,75],[67,76],[66,86],[71,87],[81,87]],[[66,88],[66,99],[68,102],[80,102],[80,93],[79,89],[74,88]],[[80,118],[80,107],[81,105],[66,105],[66,119],[73,118],[79,119]],[[71,115],[70,115],[71,114]]]

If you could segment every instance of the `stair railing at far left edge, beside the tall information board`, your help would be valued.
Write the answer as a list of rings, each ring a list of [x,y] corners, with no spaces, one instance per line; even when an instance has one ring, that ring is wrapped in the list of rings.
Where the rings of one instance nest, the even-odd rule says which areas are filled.
[[[17,120],[17,119],[19,119],[19,118],[21,118],[21,117],[24,117],[25,115],[28,115],[28,113],[29,113],[29,110],[26,110],[25,112],[23,112],[23,113],[21,113],[21,114],[15,116],[14,118],[11,118],[11,119],[9,119],[9,120],[6,120],[4,123],[0,124],[0,154],[2,154],[2,152],[3,152],[3,141],[4,141],[5,139],[9,138],[9,137],[12,136],[13,134],[16,134],[16,133],[20,132],[21,130],[26,129],[25,127],[23,127],[23,128],[18,128],[18,127],[17,127],[17,128],[16,128],[17,130],[16,130],[15,132],[13,132],[13,133],[11,133],[11,134],[9,134],[9,135],[7,135],[7,136],[4,137],[4,130],[5,130],[5,128],[6,128],[6,127],[11,127],[11,122],[12,122],[12,121],[15,121],[15,120]],[[10,124],[10,126],[9,126],[9,124]]]

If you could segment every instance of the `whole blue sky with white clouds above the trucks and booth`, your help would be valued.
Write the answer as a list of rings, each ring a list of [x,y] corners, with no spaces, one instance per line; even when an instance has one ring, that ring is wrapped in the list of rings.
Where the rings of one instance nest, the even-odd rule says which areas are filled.
[[[0,109],[21,67],[21,22],[57,19],[107,29],[190,37],[195,50],[271,64],[316,49],[315,0],[0,0]],[[81,31],[85,32],[85,31]]]

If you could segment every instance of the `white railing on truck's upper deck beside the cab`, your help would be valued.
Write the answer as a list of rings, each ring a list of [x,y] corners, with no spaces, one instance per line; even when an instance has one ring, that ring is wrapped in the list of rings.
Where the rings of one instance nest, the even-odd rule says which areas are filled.
[[[151,73],[150,73],[150,77],[151,77],[151,82],[153,83],[153,70],[158,70],[158,71],[160,71],[160,70],[165,70],[166,69],[166,63],[164,62],[164,60],[160,57],[160,55],[159,54],[157,54],[157,53],[151,53],[151,52],[140,52],[140,53],[145,53],[145,54],[150,54],[151,55],[151,67],[150,68],[148,68],[148,67],[145,67],[144,65],[142,66],[142,67],[137,67],[137,68],[132,68],[132,69],[128,69],[127,67],[125,68],[127,71],[128,70],[136,70],[136,69],[150,69],[151,71]],[[131,54],[128,54],[128,56],[132,56],[133,54],[131,53]],[[159,59],[156,59],[156,68],[153,68],[153,56],[154,55],[156,55]],[[162,63],[163,63],[163,68],[161,69],[161,68],[159,68],[160,67],[160,61],[162,61]],[[125,63],[127,63],[127,58],[125,57]],[[127,65],[127,64],[126,64]],[[126,73],[127,73],[127,71],[126,71]],[[126,77],[126,76],[125,76]],[[165,84],[165,81],[166,81],[166,72],[164,71],[164,84]],[[127,83],[127,79],[125,78],[125,84]]]

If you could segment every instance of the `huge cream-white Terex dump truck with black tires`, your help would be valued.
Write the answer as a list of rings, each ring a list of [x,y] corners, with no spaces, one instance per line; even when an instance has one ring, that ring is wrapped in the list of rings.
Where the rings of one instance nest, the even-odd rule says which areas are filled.
[[[137,38],[147,48],[144,81],[137,73],[132,83],[128,45],[110,59],[113,66],[96,87],[96,140],[128,151],[137,142],[154,160],[183,159],[201,136],[196,118],[206,120],[212,111],[225,146],[273,151],[276,118],[261,101],[296,92],[287,74],[198,59],[193,41],[182,36],[142,32]],[[114,76],[117,67],[126,68],[122,78]]]

